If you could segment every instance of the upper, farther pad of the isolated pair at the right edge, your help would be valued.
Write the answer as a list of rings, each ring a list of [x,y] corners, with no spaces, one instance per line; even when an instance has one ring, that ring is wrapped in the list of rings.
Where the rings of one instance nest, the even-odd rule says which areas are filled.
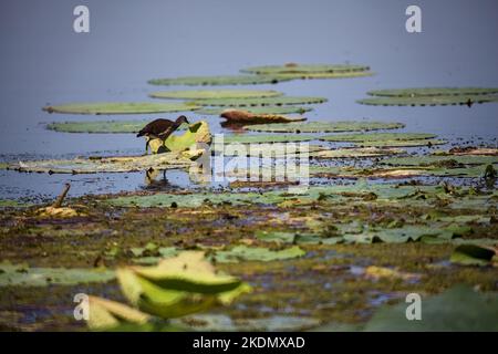
[[[419,97],[419,96],[468,96],[497,94],[498,87],[415,87],[374,90],[367,92],[372,96],[382,97]]]

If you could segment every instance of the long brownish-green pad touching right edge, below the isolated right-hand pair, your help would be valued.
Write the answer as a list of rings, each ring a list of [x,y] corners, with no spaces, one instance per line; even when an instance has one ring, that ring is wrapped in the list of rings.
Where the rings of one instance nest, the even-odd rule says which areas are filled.
[[[439,156],[421,155],[411,157],[392,157],[383,159],[383,165],[395,166],[436,166],[436,167],[460,167],[461,165],[490,165],[498,164],[498,156]]]

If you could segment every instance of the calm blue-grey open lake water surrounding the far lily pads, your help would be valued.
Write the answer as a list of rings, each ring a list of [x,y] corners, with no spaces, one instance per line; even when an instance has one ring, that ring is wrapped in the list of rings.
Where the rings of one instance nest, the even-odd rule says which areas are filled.
[[[372,77],[291,81],[271,88],[315,95],[310,121],[372,118],[402,122],[404,132],[438,134],[497,145],[498,104],[443,107],[360,105],[370,90],[411,86],[498,86],[498,2],[416,1],[423,32],[405,31],[412,1],[84,1],[91,32],[76,34],[72,12],[80,1],[3,1],[0,4],[1,160],[142,154],[131,134],[65,134],[44,124],[71,119],[129,119],[178,114],[86,116],[48,114],[46,104],[149,101],[147,80],[236,74],[252,65],[357,63]],[[221,86],[217,86],[222,88]],[[222,132],[216,116],[205,118]],[[71,195],[144,187],[143,173],[105,175],[19,174],[0,170],[0,198],[53,197],[65,181]],[[189,187],[183,173],[168,173]]]

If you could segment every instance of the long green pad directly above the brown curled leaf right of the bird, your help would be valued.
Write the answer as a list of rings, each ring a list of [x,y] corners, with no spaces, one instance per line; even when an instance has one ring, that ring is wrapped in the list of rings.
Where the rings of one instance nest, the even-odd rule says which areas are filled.
[[[253,107],[253,106],[281,106],[293,104],[312,104],[326,102],[324,97],[312,96],[280,96],[261,98],[212,98],[191,102],[196,106],[221,106],[221,107]]]

